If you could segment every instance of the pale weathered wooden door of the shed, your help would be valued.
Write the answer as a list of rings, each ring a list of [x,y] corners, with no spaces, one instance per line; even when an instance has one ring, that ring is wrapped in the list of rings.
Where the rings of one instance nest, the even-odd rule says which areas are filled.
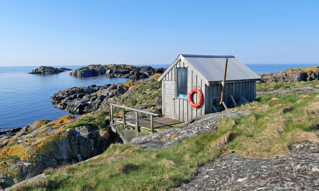
[[[175,115],[175,81],[164,81],[164,115],[174,117]]]

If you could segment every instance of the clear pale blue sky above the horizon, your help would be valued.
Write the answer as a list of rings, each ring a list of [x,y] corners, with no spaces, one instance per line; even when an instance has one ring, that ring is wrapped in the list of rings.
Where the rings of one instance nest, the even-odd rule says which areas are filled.
[[[2,1],[0,66],[319,63],[319,1]]]

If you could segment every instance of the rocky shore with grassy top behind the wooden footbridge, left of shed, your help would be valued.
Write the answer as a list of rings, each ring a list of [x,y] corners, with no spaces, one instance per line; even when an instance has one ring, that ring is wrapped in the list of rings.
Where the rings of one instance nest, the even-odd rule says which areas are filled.
[[[161,105],[161,83],[157,81],[158,76],[159,74],[154,74],[151,80],[147,81],[130,80],[104,86],[68,88],[55,93],[51,102],[56,104],[57,108],[75,114],[109,110],[109,103],[127,106]],[[144,109],[147,107],[143,107]]]

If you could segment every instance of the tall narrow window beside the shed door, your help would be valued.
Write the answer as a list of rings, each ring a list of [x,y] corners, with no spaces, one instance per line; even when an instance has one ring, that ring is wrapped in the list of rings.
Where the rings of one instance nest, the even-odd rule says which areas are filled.
[[[187,98],[187,68],[177,68],[177,97]]]

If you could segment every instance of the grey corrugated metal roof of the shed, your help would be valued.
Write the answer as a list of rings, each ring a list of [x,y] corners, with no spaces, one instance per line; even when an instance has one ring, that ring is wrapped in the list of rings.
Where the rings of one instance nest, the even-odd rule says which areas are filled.
[[[226,81],[258,80],[260,77],[234,56],[181,54],[207,81],[223,81],[225,58],[228,58]]]

